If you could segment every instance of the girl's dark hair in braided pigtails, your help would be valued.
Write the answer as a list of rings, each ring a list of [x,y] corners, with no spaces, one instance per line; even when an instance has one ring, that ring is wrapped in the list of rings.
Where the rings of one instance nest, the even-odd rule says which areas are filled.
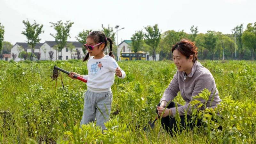
[[[110,50],[109,50],[109,51],[110,51],[110,52],[109,52],[108,55],[111,56],[111,57],[113,57],[113,58],[115,58],[115,56],[114,56],[113,53],[112,53],[112,44],[113,44],[113,41],[112,41],[110,38],[107,38],[107,39],[106,39],[105,34],[103,34],[103,33],[100,32],[100,31],[93,31],[93,32],[91,32],[91,33],[87,36],[87,38],[89,38],[89,37],[92,38],[96,44],[98,44],[98,43],[105,43],[104,49],[103,49],[102,51],[105,50],[106,46],[108,45],[108,41],[109,41],[109,47],[110,47]],[[83,60],[83,61],[88,60],[88,58],[89,58],[89,52],[87,52],[87,54],[86,54],[86,56],[84,57],[84,60]]]

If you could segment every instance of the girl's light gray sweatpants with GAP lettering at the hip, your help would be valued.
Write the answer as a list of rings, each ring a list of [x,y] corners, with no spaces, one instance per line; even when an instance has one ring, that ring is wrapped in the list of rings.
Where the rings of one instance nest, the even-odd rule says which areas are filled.
[[[96,125],[100,125],[102,130],[106,129],[104,123],[109,119],[112,99],[111,91],[95,93],[87,90],[84,94],[84,114],[80,126],[94,122],[96,118]]]

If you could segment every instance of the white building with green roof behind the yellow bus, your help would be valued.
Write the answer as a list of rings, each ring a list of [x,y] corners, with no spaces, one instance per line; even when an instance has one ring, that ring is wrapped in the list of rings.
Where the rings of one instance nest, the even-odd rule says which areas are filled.
[[[117,60],[118,61],[120,61],[121,51],[122,52],[132,52],[131,44],[132,44],[131,40],[124,40],[120,44],[118,44],[118,47],[117,47]],[[146,60],[153,60],[153,57],[149,56],[149,52],[146,55]],[[159,60],[159,54],[156,54],[156,60],[157,61]]]

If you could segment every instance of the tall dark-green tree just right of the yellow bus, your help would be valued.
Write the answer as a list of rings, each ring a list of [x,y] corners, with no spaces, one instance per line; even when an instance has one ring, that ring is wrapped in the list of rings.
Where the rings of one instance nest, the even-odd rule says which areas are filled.
[[[144,34],[145,43],[150,46],[151,55],[153,57],[153,60],[156,61],[156,52],[157,52],[158,44],[161,39],[161,32],[157,24],[155,24],[153,27],[147,26],[144,28],[147,31],[147,33]]]

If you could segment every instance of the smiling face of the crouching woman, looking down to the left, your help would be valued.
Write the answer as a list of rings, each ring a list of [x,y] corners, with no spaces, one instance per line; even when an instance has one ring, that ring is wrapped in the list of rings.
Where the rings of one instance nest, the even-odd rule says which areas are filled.
[[[192,55],[187,59],[186,56],[181,54],[178,50],[174,50],[172,59],[180,72],[185,71],[188,74],[188,72],[191,71],[191,63],[193,63]]]

